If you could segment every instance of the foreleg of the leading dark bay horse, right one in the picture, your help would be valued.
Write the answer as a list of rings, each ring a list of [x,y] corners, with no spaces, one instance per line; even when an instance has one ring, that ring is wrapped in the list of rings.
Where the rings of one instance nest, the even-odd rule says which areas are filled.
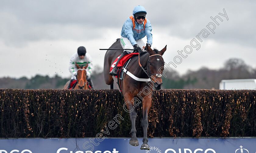
[[[143,107],[143,118],[141,120],[141,125],[143,128],[143,144],[141,145],[140,149],[150,149],[148,145],[148,112],[151,107],[151,98],[144,99],[142,103]]]

